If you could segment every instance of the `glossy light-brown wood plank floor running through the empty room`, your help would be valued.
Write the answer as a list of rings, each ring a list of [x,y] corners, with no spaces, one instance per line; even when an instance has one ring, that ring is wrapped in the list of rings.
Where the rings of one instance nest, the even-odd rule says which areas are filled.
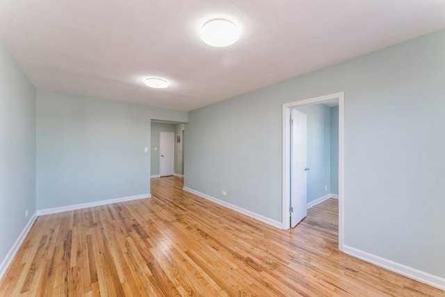
[[[41,216],[0,296],[444,296],[337,250],[337,200],[277,230],[152,179],[152,198]]]

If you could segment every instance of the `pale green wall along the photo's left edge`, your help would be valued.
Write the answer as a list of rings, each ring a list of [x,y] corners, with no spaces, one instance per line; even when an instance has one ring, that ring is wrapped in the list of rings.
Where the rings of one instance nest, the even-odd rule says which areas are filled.
[[[35,88],[0,41],[0,268],[33,214]]]

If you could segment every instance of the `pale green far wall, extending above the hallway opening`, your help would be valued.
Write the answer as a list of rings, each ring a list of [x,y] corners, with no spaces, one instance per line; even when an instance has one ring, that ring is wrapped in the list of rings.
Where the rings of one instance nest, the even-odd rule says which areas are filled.
[[[184,111],[38,91],[38,209],[150,192],[152,119],[187,122]]]

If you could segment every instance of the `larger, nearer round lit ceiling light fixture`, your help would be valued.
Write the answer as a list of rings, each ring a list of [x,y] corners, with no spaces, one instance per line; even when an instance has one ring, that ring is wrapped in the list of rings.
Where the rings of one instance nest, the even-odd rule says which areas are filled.
[[[201,29],[201,39],[211,47],[228,47],[238,40],[240,29],[228,19],[211,19]]]

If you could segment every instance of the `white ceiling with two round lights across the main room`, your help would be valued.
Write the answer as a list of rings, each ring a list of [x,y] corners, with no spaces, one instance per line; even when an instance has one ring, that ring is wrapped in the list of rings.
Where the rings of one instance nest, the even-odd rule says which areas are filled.
[[[205,45],[213,17],[238,42]],[[0,0],[0,38],[36,88],[184,111],[443,28],[444,0]]]

